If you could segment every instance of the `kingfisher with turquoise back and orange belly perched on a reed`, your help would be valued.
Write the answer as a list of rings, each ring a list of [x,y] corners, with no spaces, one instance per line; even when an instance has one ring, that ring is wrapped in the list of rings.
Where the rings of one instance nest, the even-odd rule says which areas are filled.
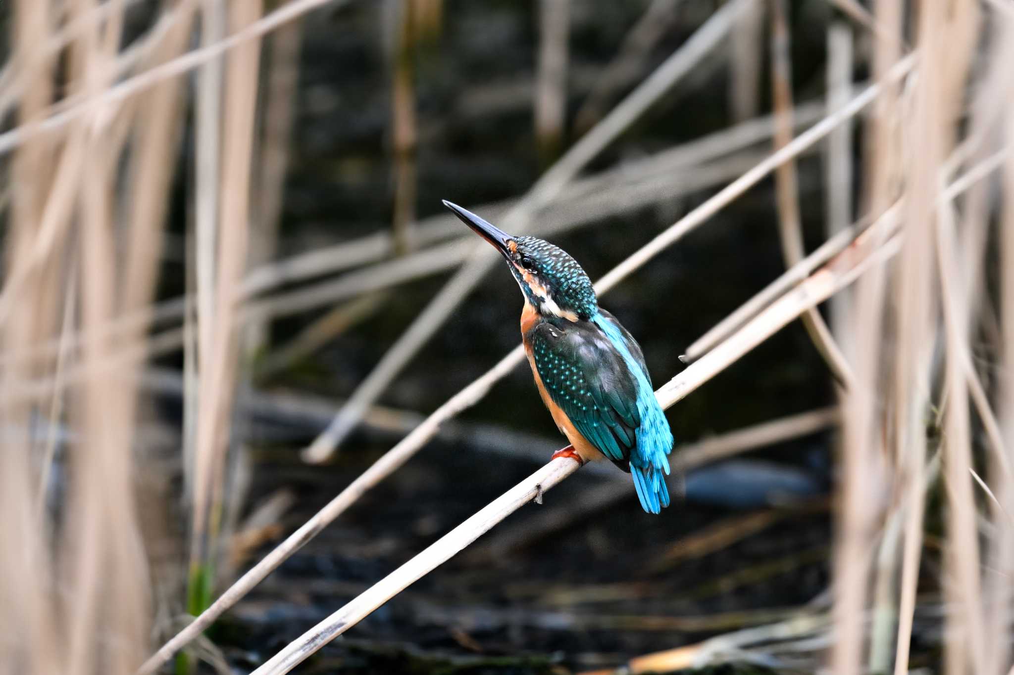
[[[580,465],[605,458],[631,474],[641,507],[669,505],[672,431],[655,398],[641,346],[598,306],[591,279],[567,252],[508,235],[455,203],[443,204],[506,259],[524,297],[521,340],[535,386]]]

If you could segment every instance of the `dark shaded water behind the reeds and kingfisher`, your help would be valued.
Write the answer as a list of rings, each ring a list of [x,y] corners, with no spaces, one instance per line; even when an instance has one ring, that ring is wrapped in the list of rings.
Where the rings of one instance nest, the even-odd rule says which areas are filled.
[[[380,49],[380,4],[325,9],[305,23],[282,255],[354,239],[390,222],[389,78]],[[819,10],[803,7],[809,4],[796,8],[797,22],[822,20]],[[646,3],[576,0],[572,5],[572,72],[593,77],[615,54]],[[644,65],[645,74],[715,7],[702,0],[683,5],[671,34]],[[480,114],[468,103],[477,92],[496,93],[530,80],[537,37],[532,7],[447,2],[442,34],[420,48],[420,217],[437,213],[441,198],[462,204],[506,198],[522,193],[537,178],[530,100],[507,97]],[[822,27],[797,31],[799,97],[819,91],[822,34]],[[701,73],[664,97],[592,168],[727,126],[727,89],[724,62],[702,66]],[[586,85],[574,83],[571,116],[585,92]],[[811,244],[820,241],[822,232],[819,181],[818,161],[804,160],[800,188]],[[603,218],[554,241],[595,278],[710,193]],[[677,357],[686,345],[784,269],[775,217],[768,180],[601,299],[640,340],[656,386],[681,369]],[[446,278],[435,275],[400,287],[383,312],[270,386],[348,396]],[[520,306],[514,281],[498,267],[381,402],[433,410],[518,342]],[[276,338],[286,339],[320,314],[279,322]],[[684,442],[829,402],[827,372],[805,332],[792,325],[667,415],[677,442]],[[527,368],[497,385],[462,418],[550,439],[547,447],[559,442]],[[284,444],[254,438],[251,499],[283,486],[297,495],[283,523],[286,531],[348,485],[393,440],[357,434],[334,463],[309,468],[299,463],[296,450],[313,431],[303,429],[302,438]],[[632,486],[618,486],[628,490],[626,499],[581,513],[528,545],[487,560],[452,560],[325,648],[300,672],[604,668],[747,625],[754,610],[802,605],[826,588],[828,577],[828,516],[812,502],[780,510],[769,526],[718,550],[685,556],[671,566],[664,561],[674,546],[705,528],[735,528],[769,512],[766,481],[798,479],[801,483],[793,485],[801,485],[809,497],[825,491],[830,440],[817,435],[750,455],[774,463],[744,460],[692,476],[690,499],[661,516],[640,510]],[[477,449],[431,443],[285,563],[211,634],[230,662],[239,669],[256,666],[536,467],[524,457]],[[579,473],[548,494],[542,506],[526,506],[477,545],[525,528],[547,509],[580,512],[582,494],[600,485],[602,479]],[[718,620],[723,617],[724,624]]]

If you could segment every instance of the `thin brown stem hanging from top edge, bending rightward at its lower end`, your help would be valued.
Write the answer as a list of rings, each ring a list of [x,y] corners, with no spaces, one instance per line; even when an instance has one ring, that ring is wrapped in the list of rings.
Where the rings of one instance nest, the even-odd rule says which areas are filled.
[[[772,0],[771,69],[772,100],[775,108],[775,150],[792,141],[792,63],[789,56],[791,35],[785,0]],[[778,199],[778,225],[782,257],[791,268],[803,259],[803,224],[799,214],[799,185],[795,160],[789,160],[775,171],[775,193]],[[855,376],[845,355],[831,337],[830,329],[820,313],[807,310],[801,317],[806,333],[823,358],[835,378],[845,388],[854,385]]]

